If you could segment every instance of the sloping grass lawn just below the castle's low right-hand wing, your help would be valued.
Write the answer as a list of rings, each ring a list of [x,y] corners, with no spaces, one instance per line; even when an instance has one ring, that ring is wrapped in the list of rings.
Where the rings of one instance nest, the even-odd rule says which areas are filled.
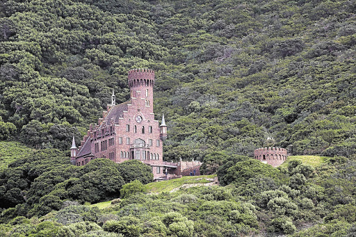
[[[211,183],[211,179],[215,178],[216,174],[200,175],[200,176],[186,176],[179,179],[170,179],[168,181],[159,181],[154,183],[147,183],[145,186],[148,193],[162,193],[170,192],[175,188],[179,188],[188,183]],[[210,180],[209,180],[210,179]]]

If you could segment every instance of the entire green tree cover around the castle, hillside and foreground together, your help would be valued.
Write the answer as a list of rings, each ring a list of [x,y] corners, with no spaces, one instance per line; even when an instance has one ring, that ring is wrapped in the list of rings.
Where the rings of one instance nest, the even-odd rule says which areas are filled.
[[[41,150],[1,156],[0,235],[355,235],[355,12],[353,0],[1,1],[0,140]],[[147,196],[130,183],[149,182],[145,165],[70,165],[72,134],[111,88],[126,101],[127,71],[144,67],[164,157],[204,161],[222,187]],[[247,157],[266,145],[333,158]],[[105,211],[74,203],[120,190],[138,194]]]

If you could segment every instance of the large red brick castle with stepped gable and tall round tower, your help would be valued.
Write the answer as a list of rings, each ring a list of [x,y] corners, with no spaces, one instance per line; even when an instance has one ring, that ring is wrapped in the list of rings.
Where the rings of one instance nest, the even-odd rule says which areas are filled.
[[[79,149],[73,138],[70,148],[72,164],[86,165],[95,158],[109,158],[115,163],[137,159],[152,167],[155,180],[199,174],[200,163],[197,161],[163,161],[162,145],[167,138],[167,126],[164,115],[161,125],[154,120],[153,86],[153,70],[130,70],[130,100],[115,104],[113,92],[111,104],[97,125],[90,125]]]

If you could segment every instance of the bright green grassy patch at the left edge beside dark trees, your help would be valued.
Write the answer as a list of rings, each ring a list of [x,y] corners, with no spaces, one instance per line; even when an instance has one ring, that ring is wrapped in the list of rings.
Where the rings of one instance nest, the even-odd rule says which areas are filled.
[[[19,142],[0,142],[0,171],[17,158],[26,156],[30,151],[30,148]]]

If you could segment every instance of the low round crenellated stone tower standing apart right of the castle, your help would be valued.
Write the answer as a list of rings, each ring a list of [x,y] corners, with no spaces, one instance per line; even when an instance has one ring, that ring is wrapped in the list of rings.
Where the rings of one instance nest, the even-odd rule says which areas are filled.
[[[272,165],[273,167],[278,167],[286,161],[286,149],[280,147],[264,147],[254,150],[254,158]]]

